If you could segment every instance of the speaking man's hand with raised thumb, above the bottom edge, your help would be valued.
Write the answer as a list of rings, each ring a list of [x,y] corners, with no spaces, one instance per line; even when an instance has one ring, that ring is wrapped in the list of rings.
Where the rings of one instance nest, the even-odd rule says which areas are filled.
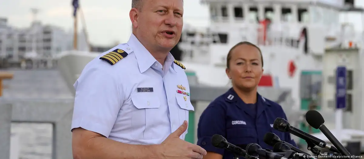
[[[171,133],[160,145],[164,158],[170,159],[202,159],[206,150],[179,138],[187,130],[187,121]]]

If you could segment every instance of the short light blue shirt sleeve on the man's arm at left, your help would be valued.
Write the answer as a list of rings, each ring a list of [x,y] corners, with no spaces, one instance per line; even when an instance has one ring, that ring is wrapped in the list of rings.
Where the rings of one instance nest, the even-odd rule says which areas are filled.
[[[89,68],[74,84],[76,94],[71,131],[74,128],[93,131],[108,137],[123,104],[122,88],[110,71]]]

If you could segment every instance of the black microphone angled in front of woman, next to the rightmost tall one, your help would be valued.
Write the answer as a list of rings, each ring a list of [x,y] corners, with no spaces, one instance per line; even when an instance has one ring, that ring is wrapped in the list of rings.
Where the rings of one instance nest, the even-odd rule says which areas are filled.
[[[293,135],[298,136],[299,138],[304,139],[307,144],[308,150],[311,150],[314,148],[314,145],[318,146],[318,147],[322,147],[322,148],[327,148],[328,150],[332,151],[332,152],[339,152],[335,147],[331,146],[330,144],[327,144],[326,142],[324,142],[324,140],[321,140],[319,138],[316,138],[315,136],[312,136],[308,133],[305,133],[304,131],[297,129],[296,127],[293,127],[289,124],[288,121],[286,121],[283,118],[276,118],[276,120],[273,123],[273,128],[278,130],[278,131],[282,131],[282,132],[289,132]],[[312,146],[310,146],[310,143],[314,144]],[[315,152],[314,152],[315,153]],[[316,152],[315,154],[319,154],[320,152]]]

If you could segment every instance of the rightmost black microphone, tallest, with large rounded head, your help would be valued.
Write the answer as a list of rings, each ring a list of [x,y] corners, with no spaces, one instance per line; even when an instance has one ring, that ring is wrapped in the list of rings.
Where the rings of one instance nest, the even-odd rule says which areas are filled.
[[[327,129],[327,127],[324,125],[324,118],[318,111],[316,110],[309,110],[307,111],[306,115],[306,121],[307,123],[312,126],[314,129],[320,129],[321,132],[330,140],[332,144],[334,144],[338,149],[339,152],[345,156],[351,157],[351,154],[348,150],[335,138],[335,136]]]

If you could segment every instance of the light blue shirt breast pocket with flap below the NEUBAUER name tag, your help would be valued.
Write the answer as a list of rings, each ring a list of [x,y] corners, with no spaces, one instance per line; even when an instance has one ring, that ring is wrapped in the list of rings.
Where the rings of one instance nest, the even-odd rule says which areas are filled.
[[[159,139],[159,121],[164,112],[159,110],[161,103],[156,94],[151,92],[131,94],[135,106],[131,112],[131,137],[134,139]]]

